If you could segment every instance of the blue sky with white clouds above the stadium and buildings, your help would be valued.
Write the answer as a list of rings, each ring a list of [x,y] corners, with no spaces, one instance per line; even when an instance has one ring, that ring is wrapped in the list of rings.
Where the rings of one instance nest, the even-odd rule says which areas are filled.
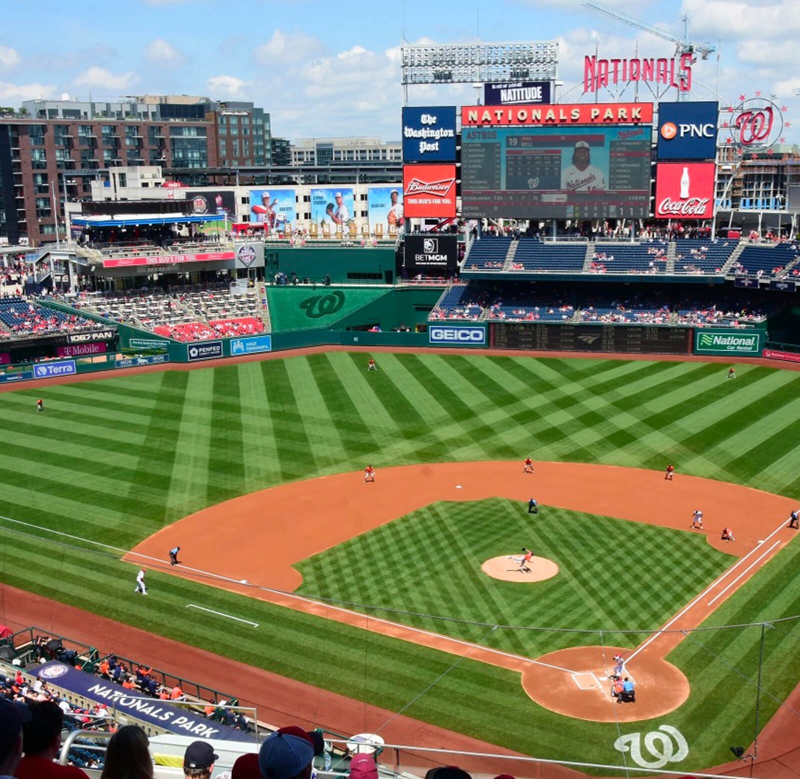
[[[698,62],[698,98],[738,101],[756,90],[786,106],[800,142],[800,0],[606,0],[643,21],[718,46]],[[5,2],[0,105],[70,94],[202,94],[252,100],[286,138],[399,138],[399,46],[408,42],[559,42],[563,90],[582,87],[583,58],[670,56],[674,46],[580,6],[579,0],[74,0]],[[35,27],[34,27],[35,25]],[[28,34],[34,30],[36,34]],[[469,86],[424,86],[410,102],[467,104]],[[793,121],[794,120],[794,121]]]

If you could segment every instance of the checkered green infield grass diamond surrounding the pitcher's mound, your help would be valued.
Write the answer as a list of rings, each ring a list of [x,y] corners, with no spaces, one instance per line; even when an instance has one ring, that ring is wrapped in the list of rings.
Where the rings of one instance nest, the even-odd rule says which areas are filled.
[[[558,576],[523,585],[482,573],[483,561],[519,553],[523,545],[556,562]],[[606,644],[630,645],[630,637],[614,629],[657,629],[686,604],[686,593],[705,589],[733,562],[705,536],[689,531],[547,506],[532,515],[521,503],[495,498],[426,506],[297,568],[304,594],[377,606],[354,608],[538,657],[566,646],[596,645],[598,633],[526,627],[603,630]],[[508,567],[515,565],[509,561]],[[487,637],[487,625],[520,629],[498,629]]]

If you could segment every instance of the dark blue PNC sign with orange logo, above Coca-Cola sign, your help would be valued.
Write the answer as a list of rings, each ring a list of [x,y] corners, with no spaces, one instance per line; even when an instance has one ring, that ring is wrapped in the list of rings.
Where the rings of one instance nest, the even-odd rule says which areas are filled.
[[[713,160],[718,116],[718,102],[658,103],[658,159]]]

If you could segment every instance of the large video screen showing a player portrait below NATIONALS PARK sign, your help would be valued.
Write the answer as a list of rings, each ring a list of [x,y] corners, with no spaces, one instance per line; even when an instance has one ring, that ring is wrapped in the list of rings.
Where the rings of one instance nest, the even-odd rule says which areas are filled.
[[[465,127],[462,214],[649,216],[651,138],[650,125]]]

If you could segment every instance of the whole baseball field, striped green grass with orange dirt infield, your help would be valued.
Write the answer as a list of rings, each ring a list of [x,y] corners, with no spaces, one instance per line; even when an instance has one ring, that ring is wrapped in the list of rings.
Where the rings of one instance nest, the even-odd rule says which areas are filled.
[[[698,770],[786,713],[800,373],[376,357],[370,374],[366,354],[341,351],[2,393],[0,580],[538,757],[633,765],[615,743],[666,728],[686,742],[666,768]],[[278,559],[287,537],[304,545]],[[190,575],[167,563],[175,542]],[[558,575],[482,573],[522,546]],[[159,550],[142,557],[148,597],[134,595],[134,548]],[[694,622],[673,621],[704,593]],[[653,665],[630,661],[637,703],[584,689],[614,653],[653,654],[653,637]]]

